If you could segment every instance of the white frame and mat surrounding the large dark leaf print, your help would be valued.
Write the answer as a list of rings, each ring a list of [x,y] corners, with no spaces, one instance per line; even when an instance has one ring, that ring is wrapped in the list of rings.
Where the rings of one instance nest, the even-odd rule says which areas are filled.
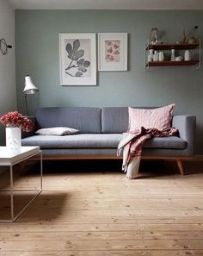
[[[67,65],[68,53],[65,49],[67,41],[75,40],[90,41],[90,71],[86,77],[71,77],[65,73]],[[86,51],[87,51],[86,47]],[[84,55],[84,57],[86,57]],[[60,64],[60,84],[61,85],[96,85],[96,48],[95,48],[95,33],[83,34],[59,34],[59,64]]]

